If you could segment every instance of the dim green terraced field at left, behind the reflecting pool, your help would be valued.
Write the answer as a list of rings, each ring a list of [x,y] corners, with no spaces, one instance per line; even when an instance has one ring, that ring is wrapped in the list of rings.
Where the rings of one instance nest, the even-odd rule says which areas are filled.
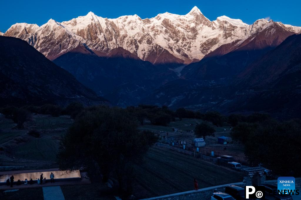
[[[19,165],[33,165],[26,163],[27,160],[35,160],[35,167],[39,168],[39,161],[43,161],[44,165],[53,166],[55,164],[56,154],[59,148],[59,140],[68,128],[72,125],[73,120],[70,117],[51,117],[48,115],[31,115],[30,121],[24,124],[21,130],[16,129],[12,120],[0,116],[0,147],[3,144],[6,148],[2,153],[10,152],[8,156],[21,159],[24,163],[19,163],[20,160],[14,163]],[[5,127],[5,129],[3,129]],[[40,133],[40,138],[35,138],[28,135],[29,130],[37,130]],[[19,137],[20,139],[16,138]],[[6,142],[6,143],[5,143]],[[4,144],[5,143],[5,144]],[[2,162],[4,165],[5,161]],[[7,160],[8,165],[11,165],[11,160]]]

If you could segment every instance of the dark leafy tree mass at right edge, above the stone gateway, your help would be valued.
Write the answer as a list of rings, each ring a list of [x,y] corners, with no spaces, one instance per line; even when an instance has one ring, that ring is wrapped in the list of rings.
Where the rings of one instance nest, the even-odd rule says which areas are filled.
[[[245,155],[253,166],[262,164],[276,175],[301,175],[300,120],[238,124],[232,138],[244,143]]]

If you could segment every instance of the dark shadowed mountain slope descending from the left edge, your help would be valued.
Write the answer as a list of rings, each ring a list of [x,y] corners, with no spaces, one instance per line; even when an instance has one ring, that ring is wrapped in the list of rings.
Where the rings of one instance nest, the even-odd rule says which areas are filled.
[[[0,104],[107,104],[25,41],[0,36]],[[107,102],[107,103],[105,103]]]

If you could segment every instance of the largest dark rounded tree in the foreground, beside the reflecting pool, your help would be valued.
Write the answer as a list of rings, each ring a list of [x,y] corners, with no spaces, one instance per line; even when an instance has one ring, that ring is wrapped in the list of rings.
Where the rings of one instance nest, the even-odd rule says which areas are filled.
[[[137,129],[135,117],[127,110],[92,107],[77,116],[63,137],[57,161],[62,170],[100,169],[103,181],[116,175],[122,192],[131,188],[132,163],[156,140],[154,133]]]

